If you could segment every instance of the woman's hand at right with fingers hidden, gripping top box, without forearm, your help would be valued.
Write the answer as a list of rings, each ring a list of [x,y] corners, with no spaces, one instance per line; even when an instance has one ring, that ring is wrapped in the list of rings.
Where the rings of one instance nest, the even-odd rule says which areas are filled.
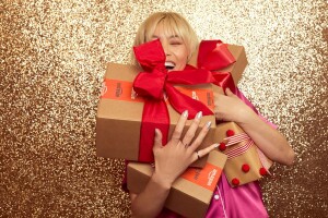
[[[229,88],[226,95],[214,93],[214,113],[219,121],[234,121],[238,124],[251,120],[256,113]]]

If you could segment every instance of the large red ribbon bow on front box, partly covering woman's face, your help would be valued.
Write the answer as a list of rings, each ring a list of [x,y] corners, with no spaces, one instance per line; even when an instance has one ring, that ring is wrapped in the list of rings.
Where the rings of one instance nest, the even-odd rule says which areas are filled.
[[[159,39],[134,47],[133,50],[137,60],[145,71],[139,73],[133,82],[134,92],[145,99],[140,130],[139,161],[152,161],[155,128],[162,131],[163,144],[167,143],[169,116],[164,93],[177,112],[188,110],[188,119],[195,118],[199,111],[204,116],[213,114],[202,102],[181,94],[174,85],[214,83],[215,80],[212,73],[204,69],[190,68],[167,73],[166,57]]]

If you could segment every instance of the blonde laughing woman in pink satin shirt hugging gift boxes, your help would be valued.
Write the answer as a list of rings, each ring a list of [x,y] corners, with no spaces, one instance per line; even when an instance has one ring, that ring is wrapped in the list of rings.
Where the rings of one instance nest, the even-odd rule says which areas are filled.
[[[154,39],[160,39],[162,44],[168,73],[173,70],[184,70],[198,45],[197,35],[188,22],[173,12],[150,15],[139,27],[134,46]],[[216,95],[215,106],[218,120],[236,122],[270,159],[282,165],[292,165],[294,152],[285,137],[276,130],[276,125],[251,109],[253,106],[241,92],[234,95],[226,89],[226,95]],[[153,153],[156,167],[143,192],[139,194],[130,192],[133,217],[180,217],[163,206],[173,182],[198,158],[195,149],[207,134],[204,125],[203,131],[195,136],[198,140],[192,138],[195,135],[192,126],[199,125],[201,112],[195,118],[189,132],[186,135],[180,134],[187,112],[181,114],[173,138],[166,146],[161,144],[161,132],[155,131]],[[191,145],[191,148],[187,149],[185,144]],[[199,154],[203,156],[215,147],[216,145],[211,145]],[[207,217],[268,217],[257,182],[232,189],[223,174],[216,187]]]

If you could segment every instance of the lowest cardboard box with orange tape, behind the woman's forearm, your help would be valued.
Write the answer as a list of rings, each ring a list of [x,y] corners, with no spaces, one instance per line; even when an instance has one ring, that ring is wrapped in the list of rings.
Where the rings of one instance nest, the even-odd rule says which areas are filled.
[[[212,150],[204,168],[188,168],[174,182],[165,207],[184,217],[204,217],[225,161],[225,155]],[[127,180],[129,191],[136,194],[142,192],[153,170],[149,164],[130,162]]]

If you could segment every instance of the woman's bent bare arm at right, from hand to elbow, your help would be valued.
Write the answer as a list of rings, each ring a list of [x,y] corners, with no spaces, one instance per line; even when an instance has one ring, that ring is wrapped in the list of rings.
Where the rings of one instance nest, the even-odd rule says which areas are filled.
[[[229,88],[225,95],[215,95],[215,116],[219,120],[236,122],[272,160],[292,165],[294,152],[286,138],[262,121],[246,104]]]

